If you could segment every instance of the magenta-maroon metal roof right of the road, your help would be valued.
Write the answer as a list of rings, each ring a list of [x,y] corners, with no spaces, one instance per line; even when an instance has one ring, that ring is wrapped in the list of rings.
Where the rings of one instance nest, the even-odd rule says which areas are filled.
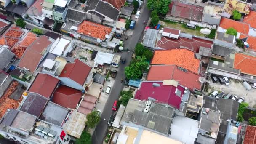
[[[154,87],[153,83],[160,84],[160,86]],[[158,103],[169,104],[179,109],[185,89],[180,85],[177,88],[181,91],[181,97],[175,94],[176,87],[173,85],[163,85],[163,82],[141,82],[141,86],[136,91],[135,99],[147,100],[151,97],[156,99]]]

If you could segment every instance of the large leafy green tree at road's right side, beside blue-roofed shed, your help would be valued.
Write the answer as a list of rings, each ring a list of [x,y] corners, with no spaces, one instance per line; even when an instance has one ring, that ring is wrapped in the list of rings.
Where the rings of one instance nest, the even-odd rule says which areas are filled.
[[[142,72],[144,72],[149,64],[146,61],[144,56],[136,57],[131,61],[131,64],[128,67],[125,67],[125,75],[128,79],[138,79],[142,76]]]

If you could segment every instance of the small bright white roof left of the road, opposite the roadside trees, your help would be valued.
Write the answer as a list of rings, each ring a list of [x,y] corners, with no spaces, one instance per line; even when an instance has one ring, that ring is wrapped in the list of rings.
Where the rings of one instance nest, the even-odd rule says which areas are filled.
[[[100,64],[100,65],[111,64],[113,58],[114,58],[114,54],[103,53],[103,52],[98,51],[98,53],[94,59],[94,66],[97,67],[98,64]]]

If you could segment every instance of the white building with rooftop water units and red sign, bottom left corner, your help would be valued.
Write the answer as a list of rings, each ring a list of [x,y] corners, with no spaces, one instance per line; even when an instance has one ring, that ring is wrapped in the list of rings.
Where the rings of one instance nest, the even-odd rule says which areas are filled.
[[[69,143],[70,138],[63,128],[37,119],[34,115],[8,109],[3,117],[0,134],[5,139],[26,144]]]

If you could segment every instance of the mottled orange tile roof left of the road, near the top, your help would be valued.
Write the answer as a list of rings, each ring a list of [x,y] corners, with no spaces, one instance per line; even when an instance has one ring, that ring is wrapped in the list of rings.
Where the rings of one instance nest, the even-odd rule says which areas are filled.
[[[83,33],[83,35],[99,38],[101,40],[105,40],[105,35],[110,34],[111,31],[112,28],[101,24],[96,24],[91,21],[83,21],[83,23],[80,24],[77,29],[77,32]]]

